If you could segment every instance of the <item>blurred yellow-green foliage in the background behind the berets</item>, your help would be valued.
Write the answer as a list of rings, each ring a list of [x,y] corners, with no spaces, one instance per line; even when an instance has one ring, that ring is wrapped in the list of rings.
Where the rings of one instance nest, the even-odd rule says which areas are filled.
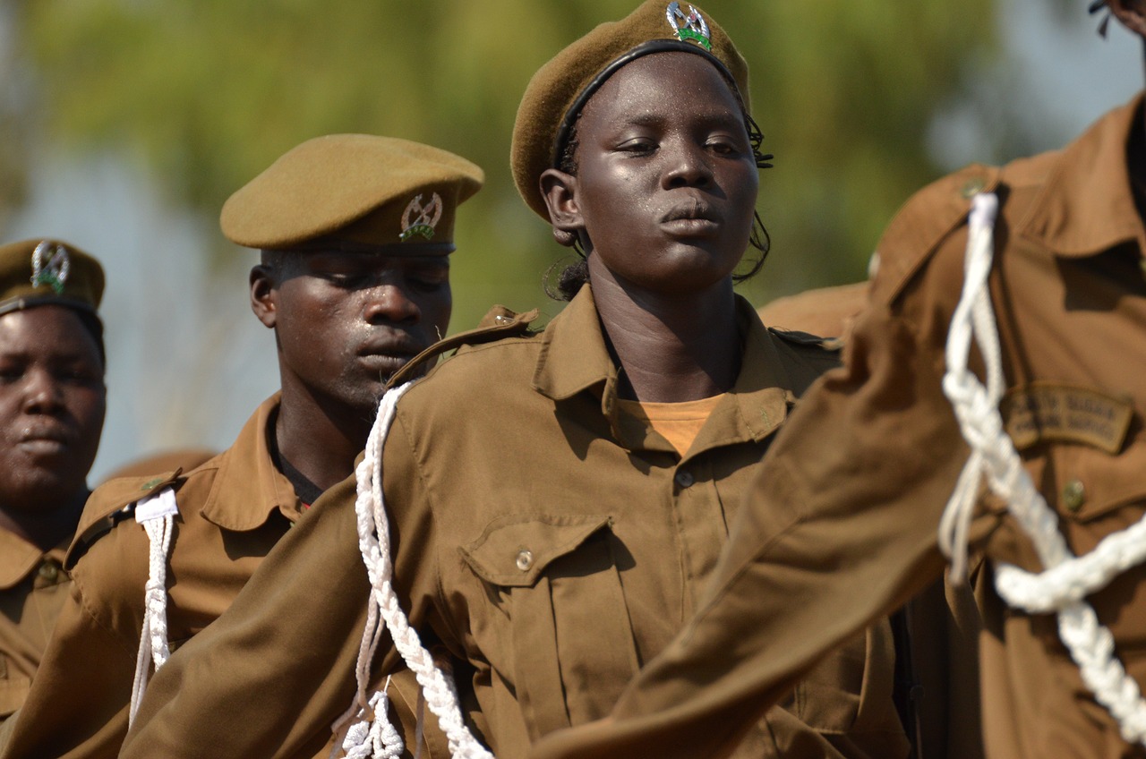
[[[170,199],[214,216],[305,139],[368,132],[438,144],[488,174],[462,212],[454,329],[543,305],[567,251],[517,197],[508,155],[528,78],[636,0],[11,0],[42,123],[77,150],[135,157]],[[776,154],[754,302],[857,280],[900,203],[934,178],[933,111],[996,46],[991,0],[712,0],[748,58]],[[14,9],[14,10],[13,10]],[[227,243],[219,237],[219,250]],[[549,303],[548,313],[559,306]]]

